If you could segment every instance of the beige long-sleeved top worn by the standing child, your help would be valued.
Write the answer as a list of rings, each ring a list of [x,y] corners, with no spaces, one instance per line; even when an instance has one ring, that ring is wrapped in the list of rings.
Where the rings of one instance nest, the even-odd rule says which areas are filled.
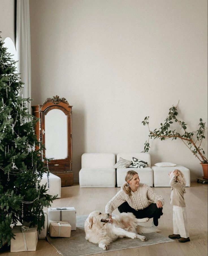
[[[176,180],[176,176],[173,175],[173,177],[170,179],[170,186],[172,190],[170,194],[170,204],[186,207],[184,200],[185,184],[178,182]]]

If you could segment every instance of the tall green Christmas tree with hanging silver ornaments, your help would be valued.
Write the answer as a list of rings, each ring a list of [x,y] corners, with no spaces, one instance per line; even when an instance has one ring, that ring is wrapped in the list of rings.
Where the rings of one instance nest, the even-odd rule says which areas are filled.
[[[20,96],[23,83],[3,44],[0,36],[0,247],[10,244],[11,227],[18,221],[37,225],[40,232],[43,207],[55,199],[46,194],[46,185],[40,186],[43,173],[49,171],[42,155],[44,145],[34,135],[39,119],[28,113],[30,99]]]

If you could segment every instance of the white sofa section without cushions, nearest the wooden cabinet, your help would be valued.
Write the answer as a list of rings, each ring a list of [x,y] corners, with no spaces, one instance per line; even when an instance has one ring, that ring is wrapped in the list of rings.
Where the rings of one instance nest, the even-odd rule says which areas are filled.
[[[112,153],[84,153],[79,171],[80,188],[114,188],[115,158]]]

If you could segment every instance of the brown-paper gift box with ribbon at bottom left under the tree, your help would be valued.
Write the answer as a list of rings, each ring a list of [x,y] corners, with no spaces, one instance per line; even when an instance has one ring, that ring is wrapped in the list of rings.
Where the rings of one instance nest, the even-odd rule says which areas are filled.
[[[15,239],[11,239],[11,252],[36,251],[38,243],[36,227],[14,226],[12,232],[15,234]]]

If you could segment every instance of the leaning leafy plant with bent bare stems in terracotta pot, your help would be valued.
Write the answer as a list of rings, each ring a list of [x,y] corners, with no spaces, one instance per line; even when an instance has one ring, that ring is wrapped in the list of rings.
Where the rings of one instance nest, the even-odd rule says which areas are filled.
[[[177,104],[178,106],[178,104]],[[188,132],[187,131],[187,124],[183,121],[180,121],[177,118],[178,111],[177,111],[177,106],[172,106],[169,109],[168,117],[166,117],[164,124],[160,124],[161,127],[159,129],[154,129],[151,131],[149,129],[149,116],[146,116],[144,118],[144,121],[142,121],[143,125],[147,125],[149,129],[149,138],[144,144],[144,151],[143,152],[148,152],[149,151],[149,139],[160,139],[160,140],[165,140],[166,138],[172,138],[173,139],[181,139],[183,143],[191,150],[191,152],[194,154],[195,157],[197,157],[200,160],[200,164],[202,165],[203,168],[203,173],[204,173],[204,179],[208,179],[207,176],[207,166],[208,166],[208,161],[207,158],[204,156],[205,152],[203,148],[201,148],[201,143],[202,140],[205,139],[204,136],[204,131],[207,129],[205,127],[205,123],[203,120],[200,118],[200,123],[199,123],[199,129],[195,132]],[[176,130],[172,130],[170,126],[175,122],[178,123],[180,128],[183,130],[183,133],[179,133]]]

